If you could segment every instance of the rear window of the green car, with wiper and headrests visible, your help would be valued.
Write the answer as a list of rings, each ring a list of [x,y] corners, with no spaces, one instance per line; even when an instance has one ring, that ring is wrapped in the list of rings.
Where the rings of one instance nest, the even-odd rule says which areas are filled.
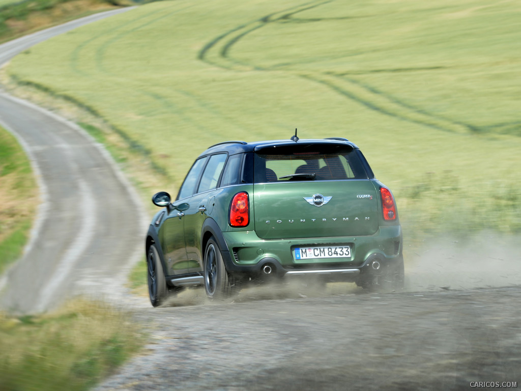
[[[350,145],[298,144],[255,153],[255,183],[367,179]]]

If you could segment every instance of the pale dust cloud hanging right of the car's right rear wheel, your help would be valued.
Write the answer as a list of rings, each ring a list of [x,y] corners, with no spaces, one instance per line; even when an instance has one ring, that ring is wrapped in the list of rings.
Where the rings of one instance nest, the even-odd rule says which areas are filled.
[[[405,258],[405,290],[473,289],[521,284],[521,238],[481,233],[425,240]]]

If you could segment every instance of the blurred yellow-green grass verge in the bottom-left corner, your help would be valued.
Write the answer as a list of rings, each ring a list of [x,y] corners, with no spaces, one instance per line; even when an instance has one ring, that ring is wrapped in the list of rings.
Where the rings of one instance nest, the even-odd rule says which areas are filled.
[[[128,314],[77,299],[44,315],[0,313],[0,391],[86,390],[145,340]]]

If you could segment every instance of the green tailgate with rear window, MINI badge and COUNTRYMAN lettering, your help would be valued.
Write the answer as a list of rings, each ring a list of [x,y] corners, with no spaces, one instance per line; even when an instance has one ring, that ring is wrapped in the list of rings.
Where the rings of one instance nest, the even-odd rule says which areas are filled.
[[[253,210],[263,239],[372,235],[377,189],[353,146],[292,144],[255,154]]]

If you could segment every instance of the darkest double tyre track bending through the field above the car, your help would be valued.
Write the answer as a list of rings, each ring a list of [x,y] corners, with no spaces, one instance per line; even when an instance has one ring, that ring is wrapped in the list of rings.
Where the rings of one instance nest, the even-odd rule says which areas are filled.
[[[208,42],[203,49],[199,52],[198,58],[203,62],[210,65],[214,65],[220,68],[224,68],[232,71],[277,71],[277,72],[288,72],[294,76],[299,76],[308,81],[325,85],[332,91],[340,94],[345,99],[349,99],[358,104],[361,104],[373,111],[380,114],[384,114],[396,119],[414,123],[417,125],[427,126],[433,129],[449,131],[454,133],[477,133],[481,129],[461,121],[455,121],[449,118],[444,118],[439,115],[431,114],[424,109],[415,107],[410,104],[406,104],[393,95],[386,94],[382,91],[377,90],[371,85],[362,83],[356,80],[354,77],[348,77],[346,73],[335,74],[332,72],[320,72],[320,71],[306,71],[301,72],[298,70],[282,70],[275,69],[273,67],[260,67],[255,64],[245,63],[237,58],[233,58],[230,54],[232,47],[240,40],[245,38],[248,34],[259,30],[274,22],[284,23],[305,23],[305,22],[317,22],[324,19],[292,19],[296,14],[302,13],[303,11],[320,7],[324,4],[333,2],[334,0],[328,1],[315,1],[311,3],[304,3],[300,6],[292,7],[278,13],[273,13],[259,18],[253,22],[239,25],[219,36],[212,41]],[[335,20],[348,20],[351,17],[337,17]],[[329,19],[328,19],[329,20]],[[286,66],[291,66],[291,63],[285,63]],[[279,68],[279,66],[277,66]],[[442,69],[442,67],[432,66],[428,69]],[[390,69],[380,71],[416,71],[420,69]],[[372,72],[360,72],[361,75]]]

